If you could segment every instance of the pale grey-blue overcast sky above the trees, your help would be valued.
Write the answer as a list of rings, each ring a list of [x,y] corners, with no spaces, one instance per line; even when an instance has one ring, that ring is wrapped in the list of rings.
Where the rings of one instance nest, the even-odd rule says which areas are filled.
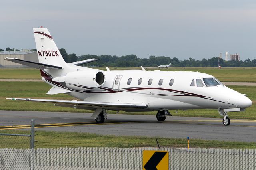
[[[8,0],[0,26],[3,49],[35,49],[44,26],[70,54],[256,58],[255,0]]]

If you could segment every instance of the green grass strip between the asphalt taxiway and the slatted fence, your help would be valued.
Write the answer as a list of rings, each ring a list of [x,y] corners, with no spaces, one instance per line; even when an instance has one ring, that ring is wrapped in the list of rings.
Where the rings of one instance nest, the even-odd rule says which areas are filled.
[[[29,134],[23,130],[1,130],[1,133]],[[186,148],[186,138],[157,138],[162,147]],[[78,132],[35,132],[35,148],[60,147],[157,147],[156,138],[145,136],[114,136]],[[29,148],[28,138],[0,136],[0,148]],[[255,149],[256,142],[235,142],[190,139],[190,148]]]

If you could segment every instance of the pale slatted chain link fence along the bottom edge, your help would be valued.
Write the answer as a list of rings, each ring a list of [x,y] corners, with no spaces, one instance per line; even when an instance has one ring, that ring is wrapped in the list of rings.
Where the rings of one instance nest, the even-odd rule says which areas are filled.
[[[141,170],[143,150],[158,148],[0,149],[1,170],[109,169]],[[161,148],[169,152],[169,169],[256,169],[255,149]]]

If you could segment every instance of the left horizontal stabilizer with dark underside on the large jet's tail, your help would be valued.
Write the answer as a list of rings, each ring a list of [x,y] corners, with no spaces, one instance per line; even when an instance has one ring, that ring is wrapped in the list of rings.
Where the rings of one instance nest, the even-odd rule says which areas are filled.
[[[36,69],[62,69],[62,67],[54,66],[54,65],[48,65],[48,64],[42,64],[42,63],[36,63],[32,61],[25,61],[22,59],[17,59],[17,58],[5,58],[4,60],[11,61],[14,63],[19,63],[22,65],[26,65],[28,67],[36,68]]]

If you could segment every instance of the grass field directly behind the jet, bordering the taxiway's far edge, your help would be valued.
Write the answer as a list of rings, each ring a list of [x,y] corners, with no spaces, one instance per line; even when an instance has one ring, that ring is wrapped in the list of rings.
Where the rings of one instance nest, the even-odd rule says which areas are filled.
[[[72,109],[67,107],[56,107],[48,103],[31,103],[27,101],[11,101],[8,97],[18,98],[40,98],[40,99],[75,99],[65,94],[46,95],[51,88],[48,84],[43,82],[0,82],[0,110],[18,110],[18,111],[60,111],[60,112],[81,112],[92,113],[92,111],[82,109]],[[230,112],[230,118],[238,119],[256,119],[256,88],[254,86],[229,86],[230,88],[247,94],[253,101],[252,107],[246,109],[245,112]],[[39,90],[38,90],[39,89]],[[116,113],[115,111],[108,111],[108,113]],[[142,114],[142,115],[156,115],[153,112],[138,112],[126,113],[120,111],[121,114]],[[191,117],[220,117],[217,110],[212,109],[193,109],[182,111],[178,113],[171,111],[174,116],[191,116]]]

